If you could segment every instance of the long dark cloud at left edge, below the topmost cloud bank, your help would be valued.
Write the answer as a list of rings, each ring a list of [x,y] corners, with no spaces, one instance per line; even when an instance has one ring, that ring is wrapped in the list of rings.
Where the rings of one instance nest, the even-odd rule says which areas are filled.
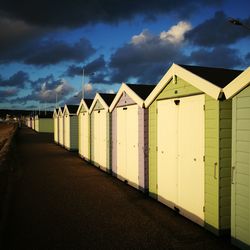
[[[47,66],[63,61],[83,62],[96,50],[89,40],[81,38],[71,45],[64,41],[29,41],[20,46],[16,46],[11,51],[1,51],[0,63],[20,61],[26,64],[37,66]]]

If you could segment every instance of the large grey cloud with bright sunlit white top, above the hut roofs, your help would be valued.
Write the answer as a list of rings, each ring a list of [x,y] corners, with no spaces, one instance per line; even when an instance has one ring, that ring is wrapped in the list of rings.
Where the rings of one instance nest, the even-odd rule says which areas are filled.
[[[128,82],[134,78],[141,83],[155,83],[173,62],[188,62],[182,42],[189,28],[187,23],[180,22],[158,35],[144,30],[133,36],[130,43],[124,44],[111,55],[110,80]],[[169,34],[172,34],[171,39]]]

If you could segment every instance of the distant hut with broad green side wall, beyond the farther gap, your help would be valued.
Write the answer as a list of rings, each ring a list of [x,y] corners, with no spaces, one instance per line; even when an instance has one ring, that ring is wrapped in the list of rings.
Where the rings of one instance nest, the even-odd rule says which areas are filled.
[[[53,112],[39,111],[35,115],[35,131],[39,133],[53,133]]]

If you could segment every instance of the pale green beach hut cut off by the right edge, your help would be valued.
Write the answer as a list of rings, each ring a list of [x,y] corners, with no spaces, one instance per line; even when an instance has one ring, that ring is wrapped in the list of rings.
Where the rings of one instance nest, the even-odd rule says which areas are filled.
[[[250,67],[223,91],[233,108],[231,236],[250,249]]]

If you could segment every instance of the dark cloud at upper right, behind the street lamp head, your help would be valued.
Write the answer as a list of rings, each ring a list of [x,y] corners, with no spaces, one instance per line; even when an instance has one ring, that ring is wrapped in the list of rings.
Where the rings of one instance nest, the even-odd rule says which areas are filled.
[[[187,39],[195,45],[214,47],[233,44],[239,39],[250,37],[250,32],[244,27],[231,24],[224,12],[215,15],[187,33]],[[250,25],[250,17],[242,23]]]

